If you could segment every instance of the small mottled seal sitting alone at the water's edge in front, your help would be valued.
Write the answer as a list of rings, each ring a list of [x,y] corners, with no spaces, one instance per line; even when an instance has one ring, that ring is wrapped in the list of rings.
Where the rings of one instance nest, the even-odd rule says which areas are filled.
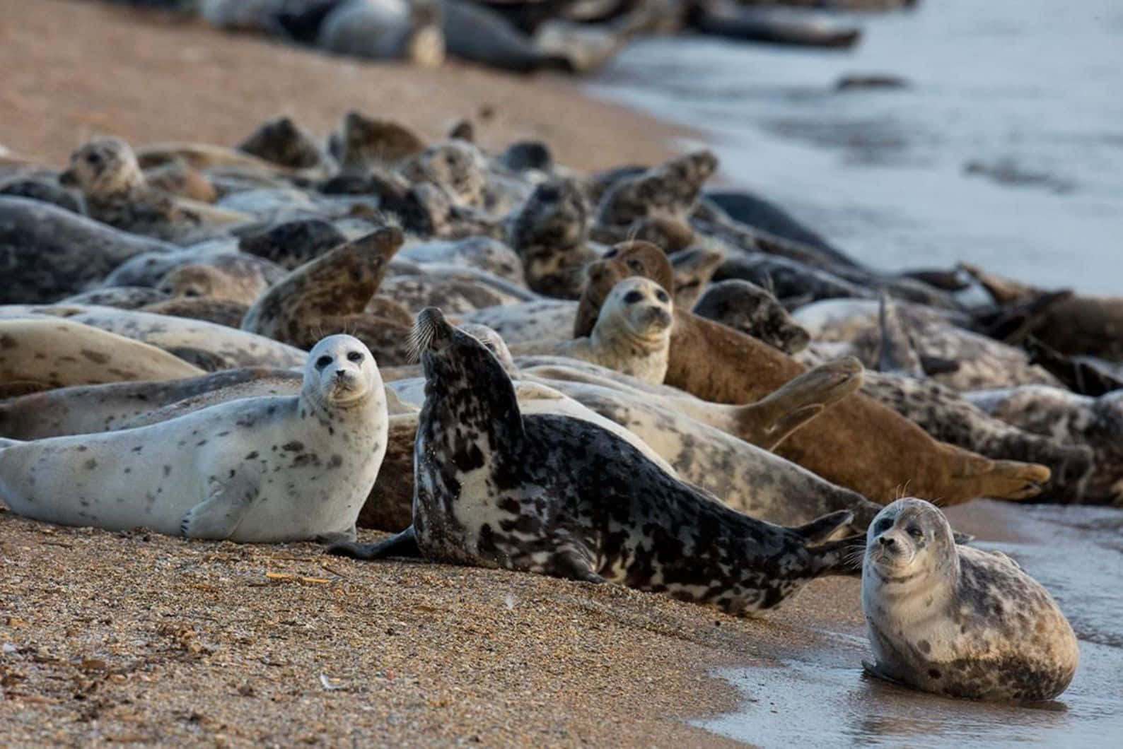
[[[1079,659],[1049,592],[1001,552],[958,546],[934,505],[900,499],[866,536],[861,609],[874,676],[973,700],[1052,700]]]

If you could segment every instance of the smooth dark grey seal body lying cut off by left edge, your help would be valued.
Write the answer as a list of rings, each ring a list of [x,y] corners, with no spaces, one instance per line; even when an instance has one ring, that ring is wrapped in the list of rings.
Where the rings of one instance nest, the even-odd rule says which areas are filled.
[[[100,283],[139,255],[173,250],[147,237],[26,197],[0,195],[0,304],[49,304]],[[129,284],[133,285],[133,284]]]

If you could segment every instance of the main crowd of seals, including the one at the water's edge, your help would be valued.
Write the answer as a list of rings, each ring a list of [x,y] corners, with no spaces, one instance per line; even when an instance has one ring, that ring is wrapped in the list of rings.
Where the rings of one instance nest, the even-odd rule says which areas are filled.
[[[1119,304],[879,271],[707,193],[716,169],[701,150],[582,174],[469,121],[427,142],[359,112],[323,139],[282,117],[237,147],[99,136],[65,168],[0,165],[0,500],[738,616],[878,573],[879,675],[1056,696],[1076,663],[1056,603],[923,500],[1123,503]],[[925,630],[894,560],[922,609],[943,591],[944,625],[1002,612]]]

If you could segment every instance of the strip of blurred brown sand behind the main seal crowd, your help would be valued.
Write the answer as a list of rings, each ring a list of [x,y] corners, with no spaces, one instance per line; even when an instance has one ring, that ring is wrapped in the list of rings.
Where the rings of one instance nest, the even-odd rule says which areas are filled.
[[[232,146],[280,113],[327,133],[349,109],[429,138],[468,117],[484,146],[541,139],[581,169],[657,161],[684,133],[587,99],[564,77],[366,63],[174,13],[0,0],[0,145],[47,163],[64,163],[92,135]]]

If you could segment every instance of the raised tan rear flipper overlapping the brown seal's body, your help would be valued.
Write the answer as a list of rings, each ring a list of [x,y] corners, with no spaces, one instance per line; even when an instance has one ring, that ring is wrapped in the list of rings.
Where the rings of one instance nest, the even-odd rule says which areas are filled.
[[[853,357],[813,367],[760,400],[734,407],[737,435],[775,450],[793,432],[861,387],[862,367]]]

